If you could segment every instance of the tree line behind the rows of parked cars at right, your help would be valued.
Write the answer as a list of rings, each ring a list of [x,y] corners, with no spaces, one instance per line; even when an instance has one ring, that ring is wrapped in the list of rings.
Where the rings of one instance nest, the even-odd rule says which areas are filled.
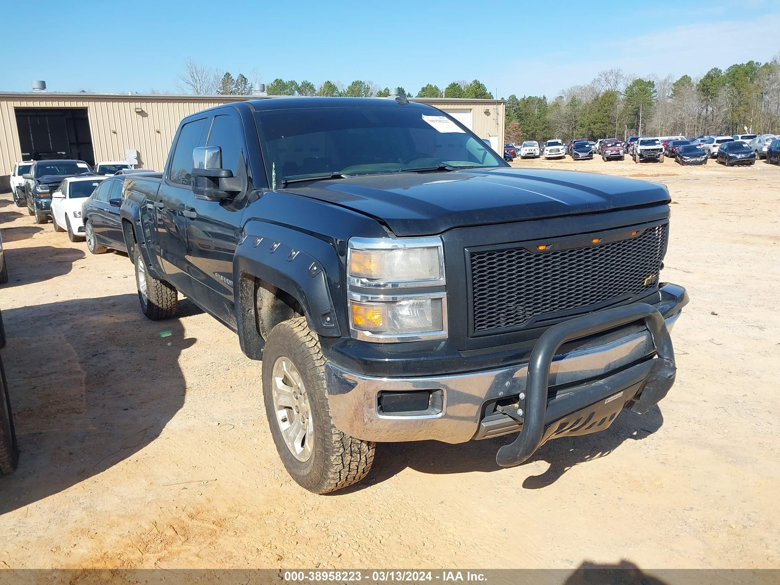
[[[694,79],[683,75],[599,73],[555,99],[517,97],[506,102],[506,140],[701,134],[780,133],[780,62],[749,61]]]

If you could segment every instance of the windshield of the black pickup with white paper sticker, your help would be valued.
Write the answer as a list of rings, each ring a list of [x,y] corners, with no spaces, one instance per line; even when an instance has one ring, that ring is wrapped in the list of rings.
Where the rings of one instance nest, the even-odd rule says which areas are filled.
[[[271,183],[438,165],[505,166],[490,147],[432,109],[291,108],[255,115]]]

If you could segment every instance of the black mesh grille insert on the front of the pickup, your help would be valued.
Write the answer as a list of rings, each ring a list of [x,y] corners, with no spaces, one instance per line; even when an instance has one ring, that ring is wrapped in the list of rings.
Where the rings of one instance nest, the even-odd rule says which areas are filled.
[[[656,225],[628,239],[569,250],[472,252],[473,332],[523,328],[651,293],[658,289],[666,229]]]

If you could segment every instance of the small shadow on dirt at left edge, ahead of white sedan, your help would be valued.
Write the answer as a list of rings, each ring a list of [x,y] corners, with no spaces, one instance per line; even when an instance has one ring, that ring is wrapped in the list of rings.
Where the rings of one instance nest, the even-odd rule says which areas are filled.
[[[5,231],[2,232],[4,242]],[[73,263],[85,256],[86,254],[78,248],[27,246],[6,249],[9,282],[3,285],[3,288],[44,282],[49,278],[66,275],[73,270]]]

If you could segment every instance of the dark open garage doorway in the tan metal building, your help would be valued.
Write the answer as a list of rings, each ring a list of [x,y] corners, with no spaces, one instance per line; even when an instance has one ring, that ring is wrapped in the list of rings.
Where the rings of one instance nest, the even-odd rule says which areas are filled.
[[[87,108],[16,108],[22,160],[76,158],[94,165]]]

